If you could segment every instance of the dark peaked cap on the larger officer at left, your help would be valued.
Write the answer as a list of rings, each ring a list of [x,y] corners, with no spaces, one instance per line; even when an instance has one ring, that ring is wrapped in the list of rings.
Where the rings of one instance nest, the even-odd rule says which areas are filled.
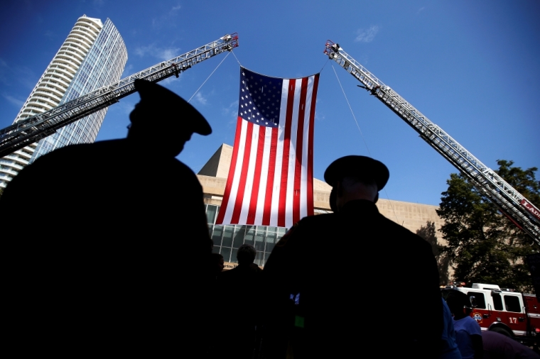
[[[188,128],[193,133],[198,133],[202,136],[207,136],[212,133],[212,128],[206,119],[191,106],[188,101],[178,96],[174,92],[166,89],[163,86],[149,82],[146,79],[136,79],[134,81],[135,89],[141,95],[141,102],[137,108],[156,112],[166,109],[168,118],[176,121],[185,121],[183,125],[188,124]],[[164,118],[166,119],[166,118]]]

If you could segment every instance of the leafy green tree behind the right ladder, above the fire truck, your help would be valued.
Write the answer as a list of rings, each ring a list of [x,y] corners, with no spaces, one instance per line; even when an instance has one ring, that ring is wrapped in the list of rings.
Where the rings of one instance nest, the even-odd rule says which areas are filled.
[[[540,203],[536,167],[522,170],[514,162],[498,160],[496,172],[531,203]],[[540,248],[500,213],[497,206],[463,175],[450,175],[437,214],[445,220],[441,233],[447,245],[441,255],[452,264],[454,280],[490,283],[533,292],[525,256]]]

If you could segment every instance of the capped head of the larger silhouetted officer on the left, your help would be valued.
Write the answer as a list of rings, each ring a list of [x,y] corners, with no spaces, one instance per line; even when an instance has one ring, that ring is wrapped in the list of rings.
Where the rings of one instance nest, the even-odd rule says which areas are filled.
[[[193,133],[207,136],[212,128],[206,119],[174,92],[153,82],[136,79],[141,101],[129,114],[128,138],[148,146],[148,150],[173,157],[183,150]]]

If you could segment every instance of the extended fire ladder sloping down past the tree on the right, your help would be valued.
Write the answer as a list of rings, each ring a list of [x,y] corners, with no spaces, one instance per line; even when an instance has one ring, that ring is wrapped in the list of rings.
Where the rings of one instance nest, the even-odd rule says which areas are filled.
[[[403,97],[345,53],[340,45],[328,40],[324,53],[360,81],[362,83],[360,87],[367,89],[397,116],[409,123],[423,140],[468,177],[503,214],[540,244],[540,210],[536,206],[527,201],[497,173],[477,160],[442,128],[429,121]]]

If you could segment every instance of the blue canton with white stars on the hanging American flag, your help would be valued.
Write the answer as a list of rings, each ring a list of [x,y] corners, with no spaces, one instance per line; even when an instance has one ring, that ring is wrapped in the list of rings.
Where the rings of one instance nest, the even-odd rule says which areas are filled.
[[[238,116],[259,126],[279,126],[283,79],[266,77],[242,67]]]

